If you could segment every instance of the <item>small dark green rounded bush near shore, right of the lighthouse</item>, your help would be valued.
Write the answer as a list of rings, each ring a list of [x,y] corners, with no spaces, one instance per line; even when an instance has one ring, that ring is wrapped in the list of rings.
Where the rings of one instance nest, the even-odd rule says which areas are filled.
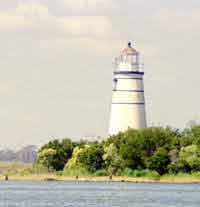
[[[160,175],[163,175],[167,172],[169,163],[168,152],[161,147],[148,159],[147,166],[150,170],[156,170]]]

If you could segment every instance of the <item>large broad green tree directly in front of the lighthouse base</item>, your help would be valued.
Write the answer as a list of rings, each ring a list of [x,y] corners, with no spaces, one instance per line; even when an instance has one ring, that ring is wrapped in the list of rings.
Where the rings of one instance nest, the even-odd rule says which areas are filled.
[[[105,142],[105,146],[114,144],[119,157],[123,160],[123,167],[131,169],[144,169],[149,157],[159,147],[169,151],[172,148],[172,141],[179,137],[177,129],[147,128],[141,130],[128,129],[117,135],[111,136]]]

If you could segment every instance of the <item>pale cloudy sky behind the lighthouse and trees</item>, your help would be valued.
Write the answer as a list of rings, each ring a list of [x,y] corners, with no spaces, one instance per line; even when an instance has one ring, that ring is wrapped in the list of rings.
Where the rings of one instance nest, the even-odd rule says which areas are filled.
[[[0,146],[106,137],[113,60],[136,42],[149,126],[200,120],[199,0],[0,0]]]

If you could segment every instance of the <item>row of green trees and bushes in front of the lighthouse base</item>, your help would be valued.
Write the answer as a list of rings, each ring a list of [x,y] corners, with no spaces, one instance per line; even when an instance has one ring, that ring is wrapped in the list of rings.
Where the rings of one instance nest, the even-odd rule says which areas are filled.
[[[200,126],[128,129],[99,143],[54,140],[40,148],[37,163],[66,175],[200,172]]]

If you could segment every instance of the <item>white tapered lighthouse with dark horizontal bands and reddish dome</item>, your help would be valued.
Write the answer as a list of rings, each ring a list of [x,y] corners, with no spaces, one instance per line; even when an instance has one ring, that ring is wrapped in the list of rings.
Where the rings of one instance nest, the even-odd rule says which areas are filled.
[[[115,58],[109,135],[128,128],[146,128],[143,64],[140,53],[128,43]]]

